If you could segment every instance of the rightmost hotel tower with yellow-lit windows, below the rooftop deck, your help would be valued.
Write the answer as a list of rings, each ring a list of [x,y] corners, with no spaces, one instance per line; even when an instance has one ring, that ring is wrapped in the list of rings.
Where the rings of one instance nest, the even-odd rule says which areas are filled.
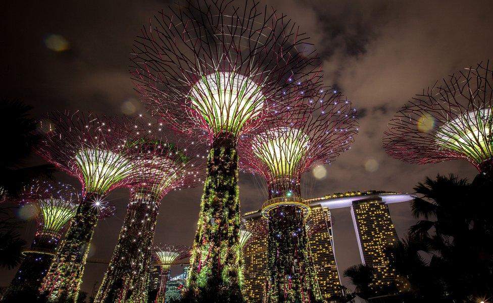
[[[351,205],[351,215],[361,263],[376,269],[377,285],[391,283],[395,279],[395,270],[389,267],[385,248],[396,243],[399,238],[387,205],[378,196],[356,200]]]

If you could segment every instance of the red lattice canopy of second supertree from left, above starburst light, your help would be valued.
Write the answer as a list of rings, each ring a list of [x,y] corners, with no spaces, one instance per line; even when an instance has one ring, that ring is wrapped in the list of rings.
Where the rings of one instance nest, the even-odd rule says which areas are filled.
[[[104,194],[116,187],[128,184],[135,179],[137,171],[128,167],[128,163],[138,157],[126,147],[127,140],[145,137],[145,134],[136,134],[131,127],[132,121],[120,117],[107,117],[93,113],[79,111],[54,112],[45,117],[41,123],[44,136],[37,147],[37,154],[52,163],[60,170],[79,179],[82,184],[82,193],[85,195],[88,187],[87,179],[94,179],[102,184]],[[90,175],[84,176],[83,169],[77,164],[77,153],[80,150],[105,150],[119,155],[118,158],[100,157],[100,164],[108,165],[110,172],[95,175],[95,169]],[[88,155],[89,157],[91,155]],[[83,156],[80,156],[83,157]],[[97,158],[97,156],[96,156]],[[126,167],[123,178],[111,173]]]

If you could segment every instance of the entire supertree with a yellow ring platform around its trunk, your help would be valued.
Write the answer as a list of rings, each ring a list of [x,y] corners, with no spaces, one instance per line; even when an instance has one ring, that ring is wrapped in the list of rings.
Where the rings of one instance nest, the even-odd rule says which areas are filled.
[[[305,219],[310,207],[301,196],[303,173],[330,164],[350,148],[357,132],[356,110],[331,89],[307,92],[306,108],[284,125],[244,140],[240,167],[263,176],[269,199],[262,206],[268,219],[267,302],[320,301]]]

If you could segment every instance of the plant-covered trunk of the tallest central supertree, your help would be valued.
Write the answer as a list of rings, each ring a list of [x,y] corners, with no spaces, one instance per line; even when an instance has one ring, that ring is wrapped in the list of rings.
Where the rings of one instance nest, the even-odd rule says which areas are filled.
[[[231,138],[211,146],[185,301],[241,302],[238,155]]]

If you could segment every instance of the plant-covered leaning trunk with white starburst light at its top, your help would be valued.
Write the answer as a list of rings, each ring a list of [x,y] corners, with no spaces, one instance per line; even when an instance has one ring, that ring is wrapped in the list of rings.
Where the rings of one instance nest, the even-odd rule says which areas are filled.
[[[57,258],[44,277],[40,296],[48,302],[75,302],[90,241],[98,219],[97,202],[101,195],[87,193],[77,209],[72,225],[62,241]]]

